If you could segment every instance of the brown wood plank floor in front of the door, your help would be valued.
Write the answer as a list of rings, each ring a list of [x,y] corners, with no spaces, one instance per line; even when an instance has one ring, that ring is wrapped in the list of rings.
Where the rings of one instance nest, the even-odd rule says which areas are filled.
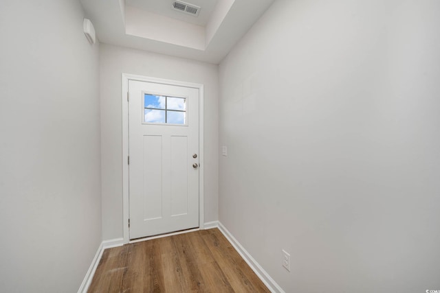
[[[89,292],[270,292],[219,229],[104,250]]]

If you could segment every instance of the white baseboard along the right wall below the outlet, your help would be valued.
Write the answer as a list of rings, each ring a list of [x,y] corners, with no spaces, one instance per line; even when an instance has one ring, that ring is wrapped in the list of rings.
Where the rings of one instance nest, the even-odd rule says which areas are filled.
[[[273,293],[285,293],[283,288],[281,288],[275,281],[270,277],[269,274],[256,262],[256,260],[248,253],[247,250],[238,242],[234,236],[228,231],[228,229],[221,224],[219,224],[219,230],[223,235],[225,235],[226,239],[234,246],[235,250],[243,257],[243,259],[248,263],[250,268],[255,272],[255,274],[263,281],[266,287]]]

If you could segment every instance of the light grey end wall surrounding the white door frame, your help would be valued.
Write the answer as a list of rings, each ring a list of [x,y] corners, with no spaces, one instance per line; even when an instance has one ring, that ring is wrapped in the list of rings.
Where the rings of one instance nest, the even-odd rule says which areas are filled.
[[[100,45],[102,233],[123,237],[122,73],[204,84],[205,222],[218,215],[218,67],[112,45]]]

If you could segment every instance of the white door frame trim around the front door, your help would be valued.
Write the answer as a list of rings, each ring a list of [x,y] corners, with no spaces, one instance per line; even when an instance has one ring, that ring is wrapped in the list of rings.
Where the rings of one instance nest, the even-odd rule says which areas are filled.
[[[203,174],[204,174],[204,152],[203,152],[203,84],[190,82],[179,82],[177,80],[164,80],[162,78],[151,78],[142,75],[122,73],[122,215],[124,227],[124,244],[130,242],[129,234],[129,104],[127,95],[129,91],[129,80],[140,82],[154,82],[157,84],[169,84],[173,86],[186,86],[199,89],[199,229],[203,229]]]

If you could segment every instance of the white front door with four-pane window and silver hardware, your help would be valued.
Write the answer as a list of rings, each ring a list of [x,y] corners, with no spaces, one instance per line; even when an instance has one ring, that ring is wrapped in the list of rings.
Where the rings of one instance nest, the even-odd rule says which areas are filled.
[[[130,239],[199,226],[199,89],[129,80]]]

